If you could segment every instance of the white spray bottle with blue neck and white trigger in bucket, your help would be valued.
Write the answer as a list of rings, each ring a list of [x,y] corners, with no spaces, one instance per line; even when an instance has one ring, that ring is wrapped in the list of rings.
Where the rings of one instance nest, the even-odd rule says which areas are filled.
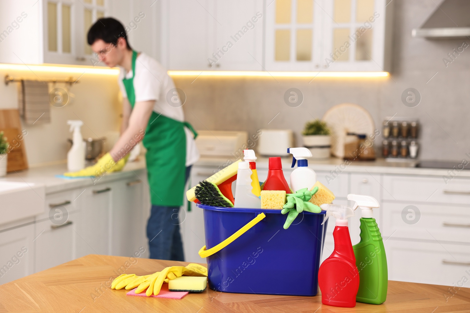
[[[302,188],[310,190],[317,182],[315,171],[308,167],[307,158],[312,157],[312,153],[304,147],[288,148],[287,153],[292,154],[292,168],[297,161],[297,168],[290,174],[290,188],[294,192]]]

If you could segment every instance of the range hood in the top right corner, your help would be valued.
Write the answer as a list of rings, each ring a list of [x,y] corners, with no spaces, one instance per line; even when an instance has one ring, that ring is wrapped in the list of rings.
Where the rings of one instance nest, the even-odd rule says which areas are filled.
[[[470,0],[444,0],[412,37],[457,39],[470,36]]]

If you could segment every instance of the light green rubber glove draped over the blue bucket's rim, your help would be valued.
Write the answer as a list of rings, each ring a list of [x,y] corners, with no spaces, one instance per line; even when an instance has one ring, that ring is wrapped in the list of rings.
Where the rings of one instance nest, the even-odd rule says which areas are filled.
[[[303,211],[320,213],[321,208],[315,206],[313,203],[308,202],[315,193],[317,193],[318,187],[313,188],[309,191],[308,188],[303,188],[295,193],[288,193],[287,203],[282,207],[282,214],[287,214],[286,222],[284,223],[284,229],[288,229],[290,224],[297,218],[298,214]]]

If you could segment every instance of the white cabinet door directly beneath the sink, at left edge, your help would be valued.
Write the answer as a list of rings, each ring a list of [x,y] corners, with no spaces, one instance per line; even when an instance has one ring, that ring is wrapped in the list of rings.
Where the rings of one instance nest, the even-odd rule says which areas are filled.
[[[0,232],[0,284],[34,273],[34,226]]]

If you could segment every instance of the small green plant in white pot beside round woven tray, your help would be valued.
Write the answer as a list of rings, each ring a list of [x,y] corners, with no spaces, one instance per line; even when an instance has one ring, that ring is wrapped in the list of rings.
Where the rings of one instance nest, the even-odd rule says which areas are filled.
[[[302,132],[304,146],[309,148],[314,159],[329,157],[331,135],[325,122],[318,120],[306,122]]]

